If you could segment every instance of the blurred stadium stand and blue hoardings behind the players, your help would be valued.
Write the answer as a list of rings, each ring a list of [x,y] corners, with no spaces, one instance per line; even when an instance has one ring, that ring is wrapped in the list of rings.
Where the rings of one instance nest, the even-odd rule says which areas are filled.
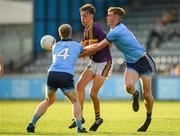
[[[180,100],[180,0],[0,0],[0,54],[5,65],[0,80],[0,99],[43,99],[51,53],[40,47],[43,35],[57,40],[58,27],[69,23],[73,40],[81,41],[83,26],[79,8],[91,3],[96,7],[95,20],[106,32],[106,13],[110,6],[126,11],[123,23],[134,33],[154,58],[157,73],[153,77],[156,100]],[[115,46],[111,47],[113,74],[101,88],[104,100],[129,99],[123,89],[124,62]],[[88,64],[79,59],[75,81]],[[88,91],[91,85],[87,86]],[[140,89],[140,85],[137,84]],[[58,98],[64,99],[61,92]]]

